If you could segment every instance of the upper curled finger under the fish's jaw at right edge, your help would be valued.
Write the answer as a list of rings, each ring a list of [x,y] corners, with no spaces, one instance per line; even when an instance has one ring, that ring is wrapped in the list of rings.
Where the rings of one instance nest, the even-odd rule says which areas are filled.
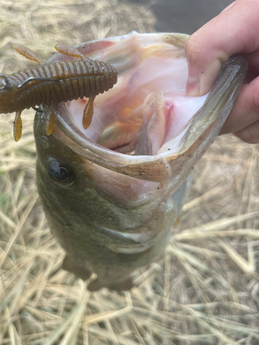
[[[259,77],[243,85],[220,134],[237,132],[259,120]]]

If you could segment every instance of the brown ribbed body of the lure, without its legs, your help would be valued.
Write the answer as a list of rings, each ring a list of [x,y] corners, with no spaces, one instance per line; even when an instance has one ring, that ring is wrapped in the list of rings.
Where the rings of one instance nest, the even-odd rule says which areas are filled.
[[[113,66],[97,60],[57,61],[26,68],[12,73],[8,78],[17,88],[21,86],[10,102],[8,112],[15,112],[41,104],[99,95],[113,87],[117,72]],[[35,78],[37,80],[34,81]],[[44,81],[44,78],[53,78],[55,81]]]

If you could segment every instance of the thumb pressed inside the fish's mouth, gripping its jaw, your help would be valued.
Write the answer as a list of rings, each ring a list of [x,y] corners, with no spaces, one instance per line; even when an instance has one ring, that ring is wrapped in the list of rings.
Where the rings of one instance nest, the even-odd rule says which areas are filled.
[[[185,46],[189,66],[186,95],[205,95],[231,55],[257,50],[258,13],[259,1],[237,0],[191,35]]]

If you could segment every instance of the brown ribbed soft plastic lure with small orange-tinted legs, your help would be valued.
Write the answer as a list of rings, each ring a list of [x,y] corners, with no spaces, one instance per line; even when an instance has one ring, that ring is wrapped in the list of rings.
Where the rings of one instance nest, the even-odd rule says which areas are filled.
[[[117,83],[115,68],[102,61],[90,60],[70,46],[55,46],[61,54],[77,58],[73,61],[45,63],[29,48],[14,46],[19,54],[39,63],[12,75],[0,74],[0,112],[16,112],[14,121],[15,141],[21,138],[21,112],[41,104],[50,106],[45,119],[46,134],[50,135],[55,124],[55,103],[88,97],[84,109],[83,126],[88,128],[93,117],[93,101],[99,93],[113,88]],[[35,109],[38,110],[38,109]]]

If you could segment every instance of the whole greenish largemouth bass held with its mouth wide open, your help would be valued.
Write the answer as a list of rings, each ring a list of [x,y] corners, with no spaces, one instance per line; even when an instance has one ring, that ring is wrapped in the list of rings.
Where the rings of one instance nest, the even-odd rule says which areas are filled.
[[[247,71],[242,57],[224,64],[208,95],[185,97],[184,34],[137,34],[82,43],[90,59],[117,70],[117,84],[94,103],[58,103],[35,117],[37,186],[64,268],[102,286],[131,288],[131,273],[155,262],[169,243],[193,166],[220,132]],[[73,59],[59,53],[48,62]]]

